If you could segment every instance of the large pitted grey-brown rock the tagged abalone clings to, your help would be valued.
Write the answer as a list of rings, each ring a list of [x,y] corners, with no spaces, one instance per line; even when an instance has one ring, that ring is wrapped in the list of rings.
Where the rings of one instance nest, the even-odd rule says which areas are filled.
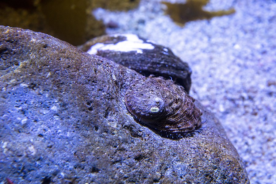
[[[236,149],[199,102],[202,133],[179,141],[137,124],[124,103],[135,71],[52,36],[0,27],[0,181],[249,183]]]

